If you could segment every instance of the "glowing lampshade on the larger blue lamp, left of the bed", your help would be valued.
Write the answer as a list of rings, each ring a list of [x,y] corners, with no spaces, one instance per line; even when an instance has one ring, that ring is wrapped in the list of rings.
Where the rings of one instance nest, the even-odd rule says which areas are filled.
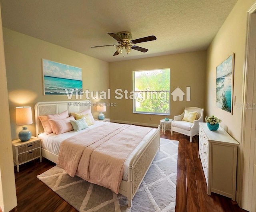
[[[16,124],[26,125],[32,123],[31,107],[16,107]]]

